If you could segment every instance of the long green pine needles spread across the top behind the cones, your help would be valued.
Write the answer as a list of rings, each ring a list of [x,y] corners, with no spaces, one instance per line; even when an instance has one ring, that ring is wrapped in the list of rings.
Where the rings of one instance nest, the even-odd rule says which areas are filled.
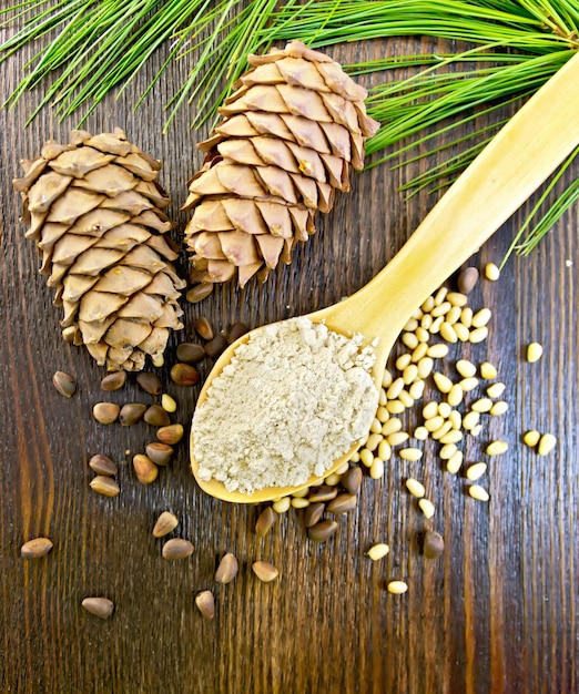
[[[23,0],[0,10],[0,29],[14,30],[0,44],[0,64],[24,48],[41,47],[4,104],[13,106],[27,91],[48,84],[28,123],[50,104],[59,119],[80,114],[78,125],[82,124],[111,90],[121,94],[158,50],[166,50],[166,57],[135,109],[167,65],[191,63],[166,104],[165,133],[185,105],[194,108],[193,127],[211,121],[246,70],[246,55],[274,43],[301,39],[313,48],[327,48],[387,37],[447,39],[461,50],[346,67],[352,75],[380,80],[367,100],[368,113],[382,125],[367,143],[368,154],[375,155],[369,166],[385,161],[403,165],[435,152],[446,156],[404,186],[412,195],[448,185],[492,136],[494,126],[482,129],[480,118],[492,114],[498,127],[502,106],[530,96],[579,49],[579,4],[577,0]],[[453,131],[465,124],[471,135],[453,137]],[[440,144],[443,137],[449,142]],[[555,198],[556,183],[577,154],[546,187],[509,253],[529,253],[578,200],[577,181]]]

